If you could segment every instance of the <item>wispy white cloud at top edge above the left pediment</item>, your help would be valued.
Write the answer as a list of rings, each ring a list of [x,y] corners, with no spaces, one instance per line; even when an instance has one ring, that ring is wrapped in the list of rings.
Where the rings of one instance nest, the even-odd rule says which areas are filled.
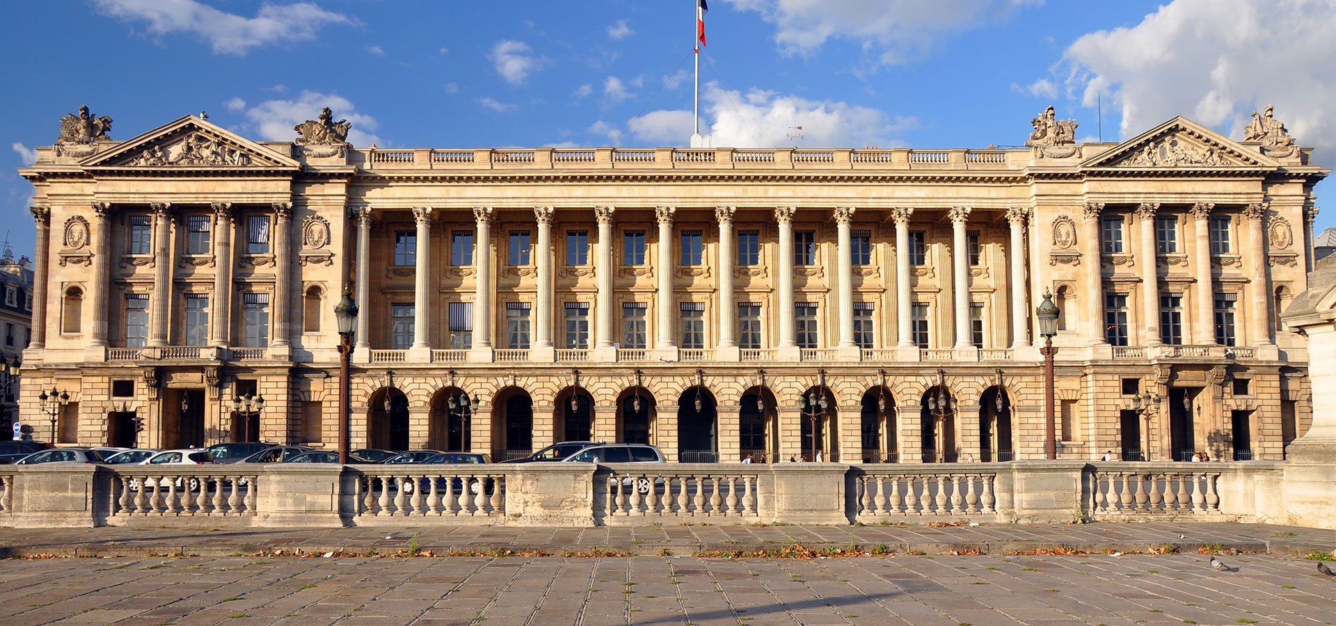
[[[219,11],[196,0],[94,0],[103,15],[123,21],[147,21],[148,32],[192,33],[216,55],[246,55],[251,48],[315,39],[330,24],[355,24],[315,3],[261,4],[255,17]]]

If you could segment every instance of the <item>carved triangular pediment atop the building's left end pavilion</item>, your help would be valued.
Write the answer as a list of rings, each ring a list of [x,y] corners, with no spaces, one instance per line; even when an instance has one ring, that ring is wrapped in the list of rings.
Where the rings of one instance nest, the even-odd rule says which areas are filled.
[[[187,115],[80,163],[87,168],[299,170],[290,156]]]

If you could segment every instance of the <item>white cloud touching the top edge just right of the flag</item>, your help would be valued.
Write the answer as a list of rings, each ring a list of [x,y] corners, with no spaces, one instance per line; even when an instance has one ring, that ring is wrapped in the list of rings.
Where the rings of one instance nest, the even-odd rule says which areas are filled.
[[[807,55],[831,39],[850,39],[880,63],[903,63],[943,35],[1006,19],[1043,0],[725,0],[775,25],[784,53]],[[705,19],[709,29],[709,19]],[[725,36],[725,35],[720,35]]]

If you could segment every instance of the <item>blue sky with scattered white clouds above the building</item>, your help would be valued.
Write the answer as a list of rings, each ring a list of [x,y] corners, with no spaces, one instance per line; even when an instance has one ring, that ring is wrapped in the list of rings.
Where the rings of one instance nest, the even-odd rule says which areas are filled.
[[[1014,145],[1050,103],[1081,139],[1180,113],[1238,139],[1275,104],[1336,164],[1329,1],[709,1],[701,108],[715,145]],[[13,218],[15,254],[31,255],[31,186],[13,170],[84,103],[115,119],[114,139],[200,111],[253,139],[291,139],[327,104],[359,145],[684,145],[693,7],[7,3],[0,215]],[[1328,226],[1336,207],[1319,218]]]

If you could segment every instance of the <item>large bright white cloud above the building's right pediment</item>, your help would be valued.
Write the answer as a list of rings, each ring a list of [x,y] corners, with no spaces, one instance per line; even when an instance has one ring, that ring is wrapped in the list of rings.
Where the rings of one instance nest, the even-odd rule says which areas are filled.
[[[1088,107],[1121,108],[1124,137],[1184,115],[1234,139],[1275,103],[1303,145],[1336,158],[1336,4],[1176,0],[1130,28],[1098,31],[1065,52],[1067,88]]]

